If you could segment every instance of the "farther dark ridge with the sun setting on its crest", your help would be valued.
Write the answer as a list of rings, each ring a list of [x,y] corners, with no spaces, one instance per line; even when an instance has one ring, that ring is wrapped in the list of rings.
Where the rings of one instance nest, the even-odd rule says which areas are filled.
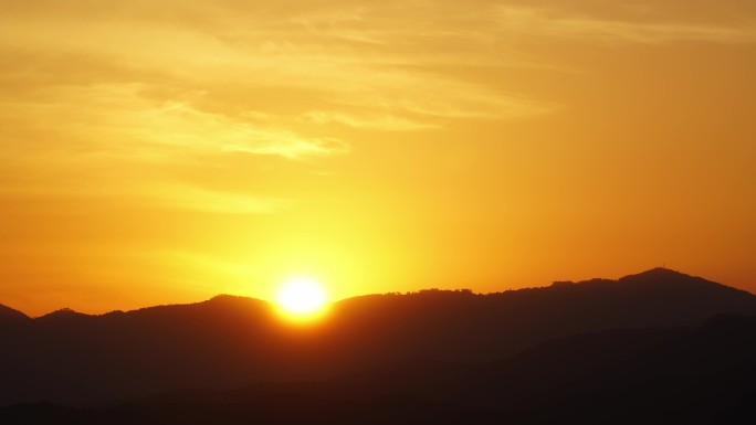
[[[666,269],[492,295],[358,297],[309,328],[230,296],[103,316],[61,310],[0,327],[0,405],[322,380],[412,358],[481,363],[547,339],[696,326],[718,314],[756,315],[756,297]]]

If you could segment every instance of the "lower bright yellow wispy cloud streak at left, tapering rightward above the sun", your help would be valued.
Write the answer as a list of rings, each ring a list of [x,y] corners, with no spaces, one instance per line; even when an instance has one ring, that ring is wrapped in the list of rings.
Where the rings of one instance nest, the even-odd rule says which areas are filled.
[[[233,117],[201,110],[201,93],[174,100],[149,98],[144,84],[54,87],[38,98],[3,105],[0,119],[22,117],[48,137],[83,144],[88,156],[171,160],[207,152],[248,152],[301,159],[344,153],[335,138],[309,138],[259,116]],[[81,152],[77,152],[77,155]]]

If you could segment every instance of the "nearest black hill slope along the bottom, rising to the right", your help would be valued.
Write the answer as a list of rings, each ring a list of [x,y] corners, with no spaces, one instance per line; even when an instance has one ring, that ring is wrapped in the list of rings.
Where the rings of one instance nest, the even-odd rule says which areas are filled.
[[[472,365],[413,360],[322,382],[170,391],[117,407],[0,408],[13,424],[753,424],[756,317],[549,340]]]

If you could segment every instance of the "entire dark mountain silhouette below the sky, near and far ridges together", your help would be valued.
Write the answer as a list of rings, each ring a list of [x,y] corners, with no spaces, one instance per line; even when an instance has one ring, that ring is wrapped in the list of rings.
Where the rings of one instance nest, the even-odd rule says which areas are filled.
[[[192,422],[208,417],[199,408],[228,423],[301,423],[302,412],[335,424],[716,423],[756,400],[754,316],[756,296],[664,268],[489,295],[364,296],[309,327],[231,296],[34,319],[1,307],[0,405],[31,404],[0,418],[203,423]],[[276,416],[286,403],[302,408]]]

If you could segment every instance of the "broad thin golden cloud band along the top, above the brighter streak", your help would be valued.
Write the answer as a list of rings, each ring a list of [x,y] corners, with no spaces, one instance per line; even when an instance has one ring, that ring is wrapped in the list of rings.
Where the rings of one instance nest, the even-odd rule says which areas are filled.
[[[470,15],[465,8],[439,3],[433,24],[426,21],[417,28],[429,12],[422,2],[333,2],[316,9],[286,3],[274,8],[275,17],[238,2],[191,1],[177,6],[169,18],[164,8],[141,2],[122,4],[118,14],[98,19],[88,15],[98,10],[92,9],[6,14],[0,18],[0,49],[28,52],[38,65],[64,56],[80,63],[73,73],[81,76],[90,70],[88,77],[104,84],[174,85],[211,95],[233,84],[249,96],[216,100],[235,114],[250,106],[274,113],[263,110],[259,102],[275,107],[276,99],[254,96],[279,87],[291,105],[274,115],[294,118],[329,110],[332,119],[321,121],[377,130],[438,128],[437,118],[507,119],[552,110],[548,102],[534,107],[539,100],[481,86],[464,75],[420,71],[440,64],[521,65],[514,55],[491,49],[498,34],[490,31],[495,29],[484,20],[484,11]],[[345,110],[355,104],[365,110]],[[292,110],[296,105],[303,107]],[[422,117],[411,116],[414,113]]]

